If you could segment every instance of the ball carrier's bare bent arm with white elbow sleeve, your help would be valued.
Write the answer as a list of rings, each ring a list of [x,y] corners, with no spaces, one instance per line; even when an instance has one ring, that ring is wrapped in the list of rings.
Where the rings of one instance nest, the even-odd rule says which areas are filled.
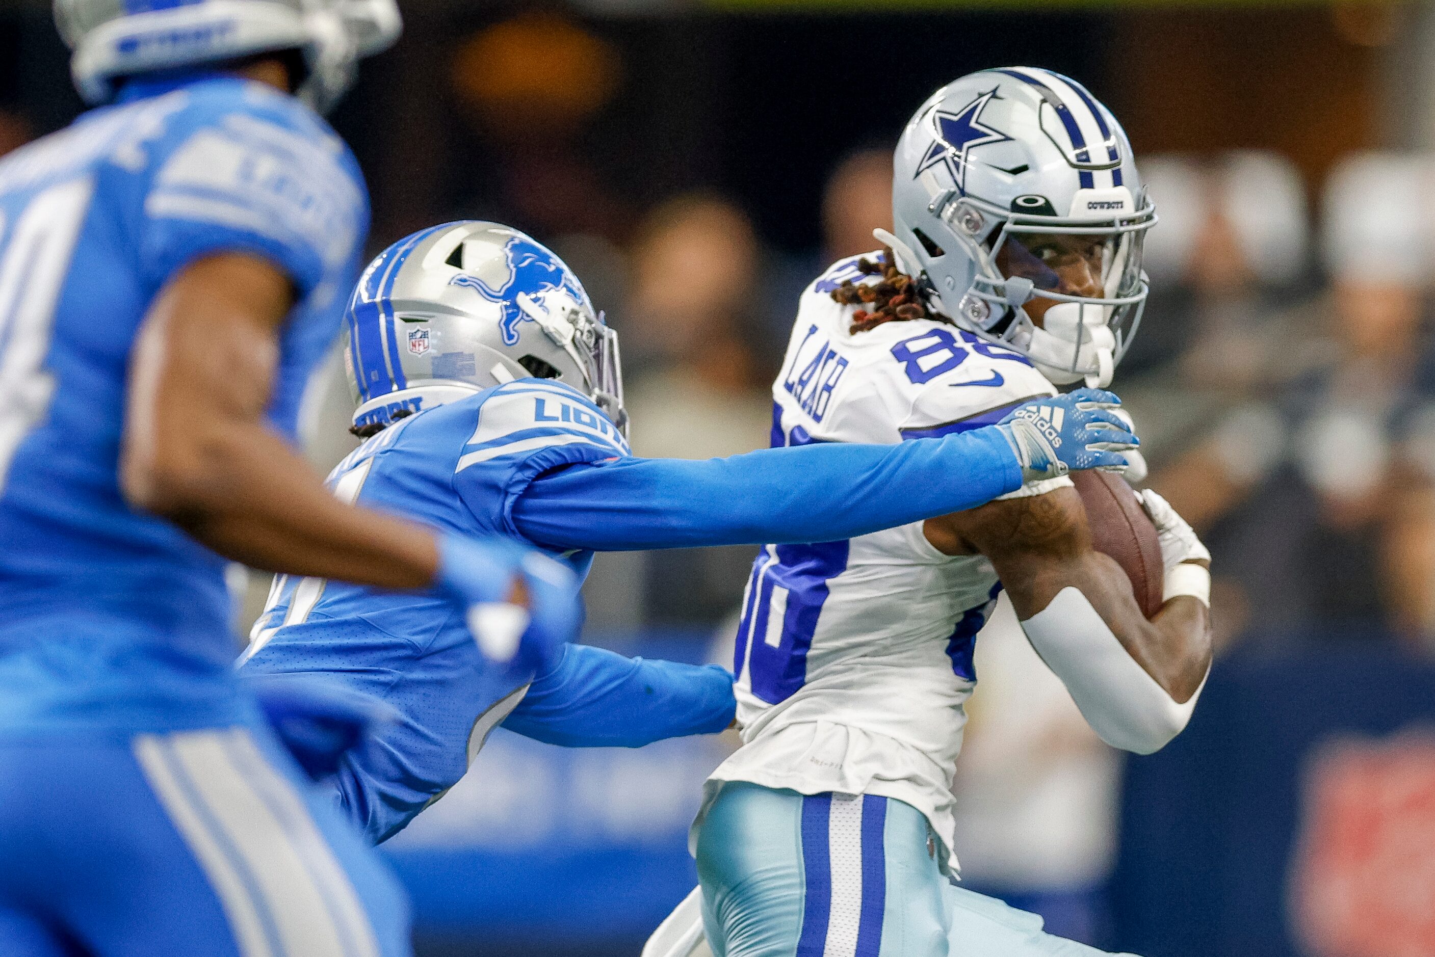
[[[1033,647],[1108,743],[1148,753],[1185,726],[1211,664],[1210,611],[1181,594],[1149,621],[1115,560],[1092,548],[1072,488],[926,524],[950,555],[992,560]]]

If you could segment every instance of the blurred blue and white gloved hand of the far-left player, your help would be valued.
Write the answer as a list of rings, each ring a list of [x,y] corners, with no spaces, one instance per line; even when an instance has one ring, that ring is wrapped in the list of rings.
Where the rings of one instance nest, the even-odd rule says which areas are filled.
[[[515,673],[541,673],[583,623],[577,575],[504,538],[439,537],[435,587],[464,607],[484,657]]]

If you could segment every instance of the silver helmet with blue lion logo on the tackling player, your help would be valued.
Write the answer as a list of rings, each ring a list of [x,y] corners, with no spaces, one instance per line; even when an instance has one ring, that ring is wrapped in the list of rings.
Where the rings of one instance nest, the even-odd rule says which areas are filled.
[[[524,379],[587,395],[620,430],[617,333],[551,251],[497,222],[449,222],[369,264],[346,313],[354,430]]]

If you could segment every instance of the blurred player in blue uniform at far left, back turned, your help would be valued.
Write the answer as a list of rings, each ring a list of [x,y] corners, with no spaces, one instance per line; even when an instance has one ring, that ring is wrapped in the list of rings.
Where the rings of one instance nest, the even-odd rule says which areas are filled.
[[[0,162],[0,953],[408,953],[397,884],[234,676],[224,583],[430,591],[515,667],[577,624],[567,570],[344,505],[290,445],[369,220],[313,108],[397,10],[56,17],[105,106]]]

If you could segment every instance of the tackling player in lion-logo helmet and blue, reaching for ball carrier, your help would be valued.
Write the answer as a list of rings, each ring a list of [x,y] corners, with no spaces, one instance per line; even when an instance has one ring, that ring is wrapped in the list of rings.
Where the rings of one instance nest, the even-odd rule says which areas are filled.
[[[1003,425],[903,446],[634,458],[616,334],[567,265],[492,222],[433,227],[375,260],[350,301],[347,357],[353,430],[372,438],[330,475],[336,495],[512,535],[580,575],[594,551],[891,528],[1069,468],[1119,468],[1135,440],[1102,407],[1115,396],[1088,390],[1045,403],[1045,418],[1007,403],[992,420]],[[838,377],[812,379],[809,405],[825,407]],[[495,674],[438,601],[294,577],[276,581],[241,671],[326,673],[397,710],[334,776],[375,841],[456,783],[499,723],[560,745],[636,746],[722,730],[735,707],[723,669],[580,646],[547,670]]]

